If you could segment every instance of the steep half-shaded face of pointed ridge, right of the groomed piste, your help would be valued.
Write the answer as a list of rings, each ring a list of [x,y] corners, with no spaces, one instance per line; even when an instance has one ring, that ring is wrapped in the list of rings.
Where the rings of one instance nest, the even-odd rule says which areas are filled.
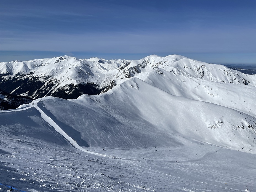
[[[34,102],[40,106],[41,114],[44,111],[48,119],[80,146],[122,149],[180,146],[184,143],[175,137],[179,134],[200,142],[256,153],[254,116],[235,108],[174,96],[138,78],[124,81],[98,96],[82,95],[76,100],[46,97]],[[33,115],[27,113],[25,117],[37,114],[34,110],[31,110]],[[40,127],[55,127],[46,122],[47,126],[39,123]],[[26,123],[19,124],[23,126],[27,126]]]

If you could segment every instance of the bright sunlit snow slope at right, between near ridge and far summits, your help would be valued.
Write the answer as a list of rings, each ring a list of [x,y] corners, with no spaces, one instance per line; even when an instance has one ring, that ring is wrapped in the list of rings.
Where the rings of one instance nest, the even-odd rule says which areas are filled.
[[[172,71],[159,68],[141,78],[172,95],[214,103],[256,116],[254,86],[213,82],[183,75],[174,76]],[[170,86],[173,84],[175,86]]]

